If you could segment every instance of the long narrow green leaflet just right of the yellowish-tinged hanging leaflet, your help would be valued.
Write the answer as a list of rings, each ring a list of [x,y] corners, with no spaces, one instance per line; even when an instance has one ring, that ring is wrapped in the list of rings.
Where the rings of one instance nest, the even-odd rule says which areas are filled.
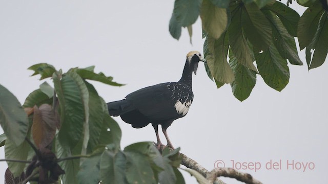
[[[236,11],[232,12],[232,19],[228,29],[230,49],[233,51],[234,55],[236,56],[236,60],[240,64],[257,72],[257,69],[253,64],[253,51],[249,48],[248,42],[244,37],[241,27],[241,10],[242,9],[237,9]]]

